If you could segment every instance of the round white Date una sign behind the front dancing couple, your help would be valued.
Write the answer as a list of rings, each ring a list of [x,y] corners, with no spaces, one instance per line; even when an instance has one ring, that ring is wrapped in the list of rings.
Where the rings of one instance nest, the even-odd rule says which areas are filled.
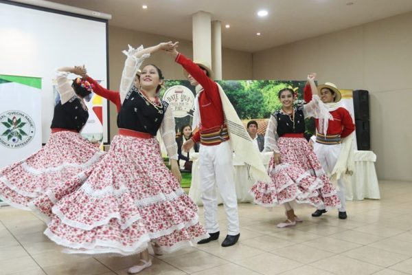
[[[175,118],[184,118],[192,115],[194,109],[194,95],[189,88],[176,85],[170,87],[163,95],[163,100],[169,103]]]

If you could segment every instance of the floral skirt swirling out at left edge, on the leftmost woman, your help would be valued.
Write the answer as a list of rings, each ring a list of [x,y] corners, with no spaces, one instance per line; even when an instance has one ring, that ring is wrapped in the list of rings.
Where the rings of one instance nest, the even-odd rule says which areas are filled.
[[[98,162],[104,152],[79,133],[59,131],[39,151],[0,170],[0,199],[24,210],[58,182]]]

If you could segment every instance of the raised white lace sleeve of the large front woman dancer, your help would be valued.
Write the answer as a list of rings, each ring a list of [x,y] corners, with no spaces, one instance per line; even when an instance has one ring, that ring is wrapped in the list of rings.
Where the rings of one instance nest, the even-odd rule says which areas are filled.
[[[126,94],[130,91],[133,83],[135,82],[135,76],[137,70],[150,54],[144,54],[137,57],[137,53],[143,50],[143,45],[134,49],[132,46],[128,45],[128,50],[124,50],[123,53],[127,56],[126,61],[124,61],[124,67],[122,72],[122,80],[120,80],[120,102],[123,103]]]

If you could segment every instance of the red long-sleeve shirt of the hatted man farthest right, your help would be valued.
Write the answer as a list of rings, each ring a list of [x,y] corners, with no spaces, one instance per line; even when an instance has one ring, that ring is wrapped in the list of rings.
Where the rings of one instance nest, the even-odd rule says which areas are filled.
[[[312,100],[312,89],[307,83],[304,89],[304,100],[305,102],[310,102]],[[333,120],[328,122],[328,131],[326,135],[341,135],[341,137],[347,137],[353,131],[355,131],[355,124],[350,116],[349,111],[343,107],[339,107],[334,111],[330,111],[330,114],[333,117]],[[318,129],[319,120],[315,119],[314,123],[316,124],[316,129]]]

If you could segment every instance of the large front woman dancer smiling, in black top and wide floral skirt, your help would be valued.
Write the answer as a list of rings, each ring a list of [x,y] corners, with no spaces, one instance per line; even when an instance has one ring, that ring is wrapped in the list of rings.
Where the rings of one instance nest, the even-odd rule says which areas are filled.
[[[72,179],[66,186],[82,184],[52,207],[45,234],[64,245],[68,253],[139,254],[134,274],[150,267],[147,249],[152,242],[157,254],[173,252],[209,235],[198,222],[197,206],[179,184],[174,118],[168,104],[157,97],[163,84],[161,70],[146,65],[140,87],[133,85],[137,69],[148,54],[168,50],[161,43],[143,50],[129,48],[119,93],[106,97],[119,102],[119,134],[111,148],[85,181]],[[87,78],[91,83],[93,80]],[[116,99],[117,98],[117,99]],[[155,135],[161,132],[171,159],[170,171],[161,157]],[[45,199],[47,206],[47,199]],[[41,211],[42,201],[36,203]]]

